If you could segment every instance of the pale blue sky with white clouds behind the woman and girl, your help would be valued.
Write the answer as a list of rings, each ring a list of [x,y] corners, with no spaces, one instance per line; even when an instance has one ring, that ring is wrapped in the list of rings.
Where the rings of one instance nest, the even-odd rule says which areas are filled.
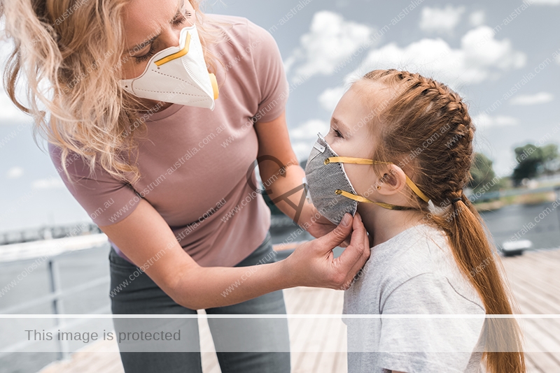
[[[511,172],[515,146],[560,143],[560,0],[222,0],[205,8],[272,31],[297,85],[287,115],[301,159],[349,82],[374,68],[420,72],[456,89],[478,126],[477,150],[499,175]],[[32,140],[29,119],[3,93],[0,108],[0,231],[89,220]]]

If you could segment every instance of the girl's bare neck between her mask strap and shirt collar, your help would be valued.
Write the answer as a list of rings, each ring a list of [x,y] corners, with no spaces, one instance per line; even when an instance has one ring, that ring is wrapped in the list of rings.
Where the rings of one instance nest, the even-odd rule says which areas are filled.
[[[422,224],[422,217],[416,211],[387,210],[379,206],[364,206],[360,210],[363,225],[370,237],[372,247],[381,244],[408,228]]]

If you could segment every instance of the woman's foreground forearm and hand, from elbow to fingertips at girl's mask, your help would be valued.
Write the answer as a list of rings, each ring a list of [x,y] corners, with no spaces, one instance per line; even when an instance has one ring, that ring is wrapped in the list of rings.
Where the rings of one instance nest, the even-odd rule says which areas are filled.
[[[349,247],[341,256],[333,258],[332,248],[349,235]],[[335,229],[300,244],[283,261],[235,268],[186,265],[169,287],[169,295],[185,307],[201,309],[232,305],[294,286],[343,290],[349,288],[369,256],[367,233],[360,215],[352,218],[346,214]]]

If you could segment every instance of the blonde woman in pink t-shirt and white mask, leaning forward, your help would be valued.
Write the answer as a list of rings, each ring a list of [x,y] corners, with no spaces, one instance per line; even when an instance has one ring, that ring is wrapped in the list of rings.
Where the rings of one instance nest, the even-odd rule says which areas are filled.
[[[346,288],[363,266],[358,215],[335,226],[307,202],[293,208],[304,171],[288,138],[281,57],[264,29],[203,16],[195,0],[10,0],[2,13],[15,43],[8,94],[35,116],[64,183],[111,242],[113,314],[285,314],[280,289]],[[15,98],[20,76],[29,107]],[[274,260],[269,210],[252,187],[255,158],[280,210],[324,235],[286,261]],[[196,320],[181,320],[197,345]],[[235,335],[213,320],[223,372],[289,372],[288,353],[266,353],[289,351],[285,319],[260,334],[258,320],[244,323],[261,349],[242,353],[228,353],[239,351],[228,347]],[[199,353],[120,347],[126,372],[201,372]]]

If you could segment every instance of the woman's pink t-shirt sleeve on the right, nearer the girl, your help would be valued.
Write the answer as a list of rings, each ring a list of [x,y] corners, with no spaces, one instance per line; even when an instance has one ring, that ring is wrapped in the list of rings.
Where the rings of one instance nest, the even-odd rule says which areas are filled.
[[[257,75],[260,100],[255,117],[259,122],[278,118],[288,101],[289,85],[282,57],[272,35],[251,21],[248,22],[249,45]]]

